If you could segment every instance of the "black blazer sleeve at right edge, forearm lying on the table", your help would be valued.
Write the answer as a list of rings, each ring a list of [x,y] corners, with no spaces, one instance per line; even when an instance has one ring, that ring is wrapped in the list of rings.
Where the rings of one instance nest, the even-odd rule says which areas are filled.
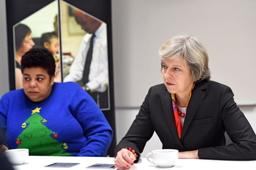
[[[256,135],[245,115],[234,102],[232,90],[225,86],[219,98],[220,119],[229,135],[228,146],[201,148],[200,159],[256,160]]]

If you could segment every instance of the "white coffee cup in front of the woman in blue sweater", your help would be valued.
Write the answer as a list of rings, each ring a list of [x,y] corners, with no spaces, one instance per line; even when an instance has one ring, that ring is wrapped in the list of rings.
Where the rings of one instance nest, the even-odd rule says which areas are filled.
[[[9,149],[4,152],[12,165],[24,164],[28,158],[28,149]]]

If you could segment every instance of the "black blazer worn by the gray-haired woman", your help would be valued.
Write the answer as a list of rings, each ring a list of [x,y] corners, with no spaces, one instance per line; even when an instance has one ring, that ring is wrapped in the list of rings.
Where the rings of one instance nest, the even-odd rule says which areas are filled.
[[[150,87],[138,115],[117,145],[116,153],[125,147],[142,153],[155,131],[163,149],[199,149],[200,159],[256,160],[255,132],[233,96],[226,85],[206,80],[196,83],[179,140],[171,94],[164,84]],[[225,146],[225,131],[234,142],[228,146]]]

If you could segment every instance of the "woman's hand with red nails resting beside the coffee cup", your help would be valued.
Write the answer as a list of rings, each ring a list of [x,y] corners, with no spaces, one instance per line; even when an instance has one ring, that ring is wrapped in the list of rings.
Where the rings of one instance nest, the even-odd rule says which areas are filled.
[[[129,168],[130,165],[133,165],[134,160],[137,158],[134,154],[128,149],[121,149],[117,152],[117,156],[114,159],[115,167],[117,169]]]

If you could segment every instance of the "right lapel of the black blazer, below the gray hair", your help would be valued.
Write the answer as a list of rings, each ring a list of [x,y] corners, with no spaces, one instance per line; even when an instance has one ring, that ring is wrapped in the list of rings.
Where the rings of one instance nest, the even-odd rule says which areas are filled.
[[[206,95],[202,91],[203,89],[206,89],[206,88],[207,86],[205,81],[199,82],[194,86],[190,101],[187,106],[186,117],[185,117],[183,128],[182,128],[181,140],[183,139],[183,136],[186,134],[188,126],[191,124],[191,121],[193,120],[193,117],[196,114],[198,107],[200,106],[204,96]]]

